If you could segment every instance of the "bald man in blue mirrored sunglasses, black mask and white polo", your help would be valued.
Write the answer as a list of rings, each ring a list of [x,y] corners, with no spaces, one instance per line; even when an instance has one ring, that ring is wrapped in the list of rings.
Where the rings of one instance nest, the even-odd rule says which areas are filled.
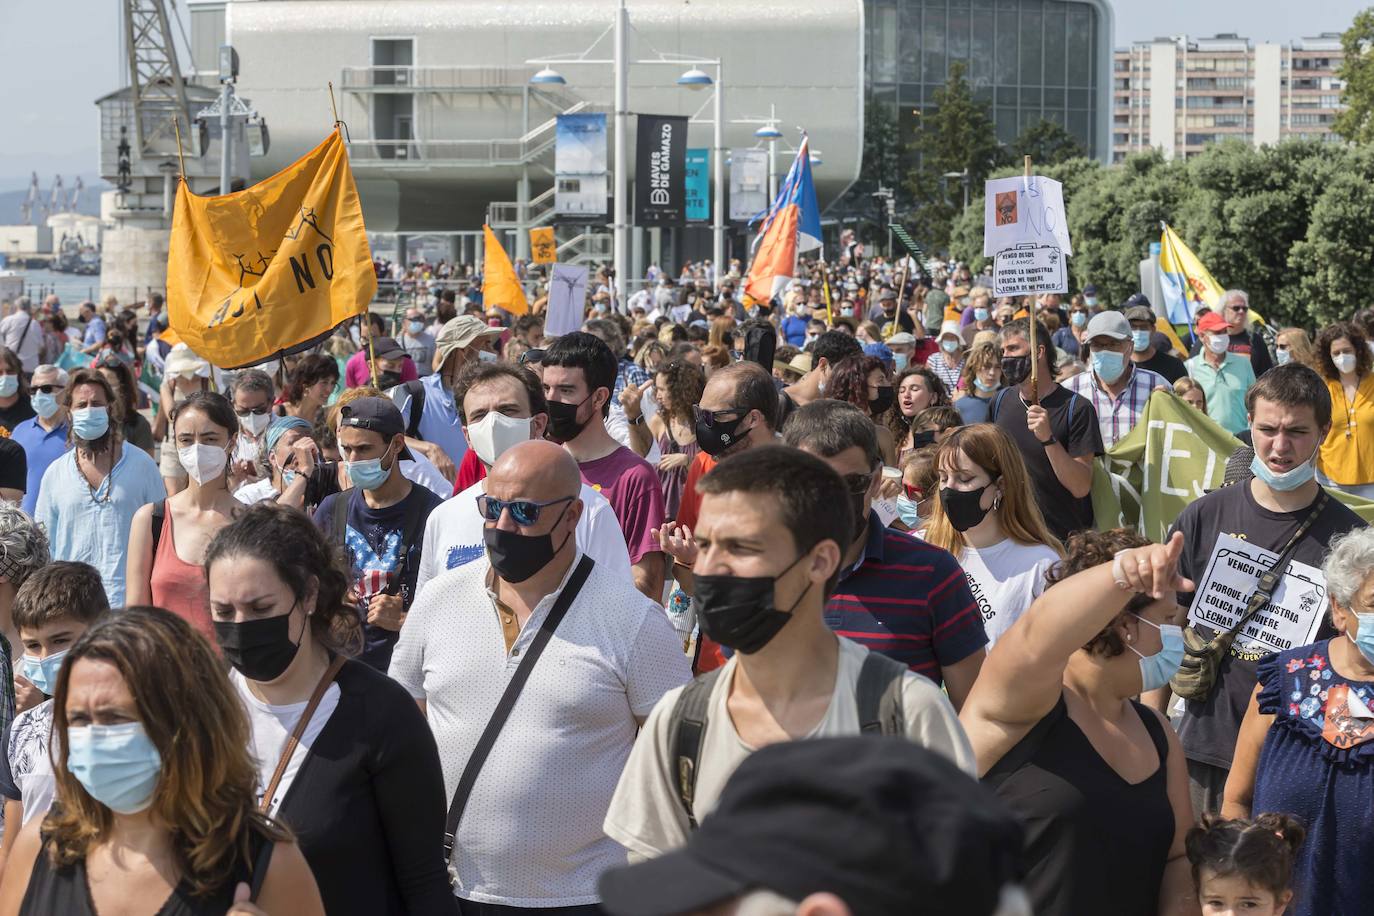
[[[464,912],[596,912],[598,876],[625,861],[602,821],[635,733],[690,678],[662,608],[578,549],[580,492],[577,463],[558,445],[532,439],[503,452],[478,497],[485,556],[430,580],[392,655],[392,677],[429,717],[451,799],[478,766],[453,831]],[[565,591],[566,612],[530,658]],[[500,739],[473,761],[526,666]]]

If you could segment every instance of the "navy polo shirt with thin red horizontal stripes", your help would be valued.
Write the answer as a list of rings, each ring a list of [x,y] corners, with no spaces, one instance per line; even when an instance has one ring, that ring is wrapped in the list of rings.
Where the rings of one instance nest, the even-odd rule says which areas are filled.
[[[941,683],[941,669],[988,643],[959,562],[938,547],[889,529],[868,514],[863,558],[840,575],[826,603],[840,636]]]

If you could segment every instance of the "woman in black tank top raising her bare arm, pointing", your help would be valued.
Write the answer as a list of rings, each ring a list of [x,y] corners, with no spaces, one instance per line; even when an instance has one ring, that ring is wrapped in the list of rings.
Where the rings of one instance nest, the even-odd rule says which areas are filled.
[[[1183,536],[1077,531],[959,711],[982,781],[1026,828],[1037,913],[1195,913],[1183,747],[1135,696],[1183,658]],[[1110,838],[1107,842],[1106,838]]]

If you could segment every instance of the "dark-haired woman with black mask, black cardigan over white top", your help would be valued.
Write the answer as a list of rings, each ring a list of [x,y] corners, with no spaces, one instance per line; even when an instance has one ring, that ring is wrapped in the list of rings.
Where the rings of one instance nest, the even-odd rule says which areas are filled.
[[[240,747],[257,762],[262,810],[295,832],[330,916],[458,913],[438,747],[400,684],[348,658],[363,633],[341,559],[309,518],[272,503],[210,542],[214,636],[250,724]]]

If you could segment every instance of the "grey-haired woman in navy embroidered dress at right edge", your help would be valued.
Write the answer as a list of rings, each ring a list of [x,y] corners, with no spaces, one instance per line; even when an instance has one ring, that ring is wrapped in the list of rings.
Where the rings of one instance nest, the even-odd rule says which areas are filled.
[[[1367,912],[1374,898],[1374,529],[1331,541],[1322,573],[1336,634],[1260,661],[1221,805],[1307,825],[1290,916]],[[1320,600],[1320,584],[1294,586]]]

